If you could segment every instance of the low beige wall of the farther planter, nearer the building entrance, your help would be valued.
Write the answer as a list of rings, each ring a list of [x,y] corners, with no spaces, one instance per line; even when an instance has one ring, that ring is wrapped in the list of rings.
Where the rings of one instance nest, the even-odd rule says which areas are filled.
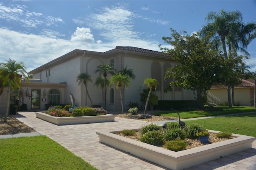
[[[74,125],[85,123],[102,123],[115,121],[116,115],[98,115],[98,116],[83,116],[83,117],[55,117],[43,112],[35,112],[36,117],[55,125]]]

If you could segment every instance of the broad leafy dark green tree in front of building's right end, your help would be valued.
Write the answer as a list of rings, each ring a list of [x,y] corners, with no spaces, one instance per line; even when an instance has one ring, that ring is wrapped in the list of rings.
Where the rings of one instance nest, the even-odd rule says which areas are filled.
[[[182,87],[196,91],[197,105],[202,107],[202,95],[206,94],[212,85],[220,83],[223,55],[214,48],[214,44],[208,41],[208,37],[200,40],[198,33],[192,36],[186,35],[186,31],[179,34],[172,28],[171,36],[163,37],[165,43],[169,43],[173,49],[161,48],[164,53],[171,55],[178,64],[166,71],[165,80],[173,77],[170,83],[172,87]],[[161,44],[159,45],[161,47]]]

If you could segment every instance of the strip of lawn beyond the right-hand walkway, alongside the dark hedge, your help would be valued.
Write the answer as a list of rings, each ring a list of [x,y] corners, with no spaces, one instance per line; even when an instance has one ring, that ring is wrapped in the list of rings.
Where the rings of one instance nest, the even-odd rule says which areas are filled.
[[[246,112],[255,112],[256,108],[250,106],[219,106],[216,108],[223,109],[222,111],[178,111],[180,113],[181,119],[188,119],[194,117],[205,117],[205,116],[218,116],[218,115],[230,115],[234,113],[246,113]],[[166,111],[166,112],[157,112],[154,113],[156,116],[169,116],[169,117],[178,117],[177,111]]]

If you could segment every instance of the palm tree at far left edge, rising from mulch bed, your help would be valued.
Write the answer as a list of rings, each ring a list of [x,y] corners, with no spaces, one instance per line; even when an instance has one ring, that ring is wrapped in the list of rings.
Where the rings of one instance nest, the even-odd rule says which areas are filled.
[[[21,76],[24,76],[25,79],[28,77],[28,73],[26,72],[26,67],[22,61],[16,62],[16,60],[9,59],[7,63],[0,63],[0,73],[1,73],[1,81],[4,80],[3,86],[6,85],[7,89],[7,98],[6,98],[6,113],[4,121],[7,122],[9,106],[10,106],[10,91],[12,89],[16,89],[20,87]],[[16,86],[16,87],[15,87]]]

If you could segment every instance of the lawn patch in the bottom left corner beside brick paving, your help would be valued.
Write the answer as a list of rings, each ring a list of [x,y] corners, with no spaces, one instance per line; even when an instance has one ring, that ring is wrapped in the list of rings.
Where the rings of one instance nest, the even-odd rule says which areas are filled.
[[[97,170],[46,136],[1,139],[1,170]]]

